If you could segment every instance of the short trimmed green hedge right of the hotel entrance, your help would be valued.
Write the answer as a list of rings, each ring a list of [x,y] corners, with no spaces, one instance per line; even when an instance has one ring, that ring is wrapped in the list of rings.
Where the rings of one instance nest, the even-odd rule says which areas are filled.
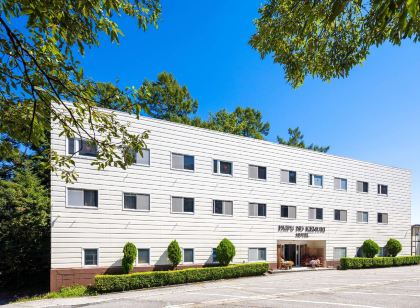
[[[420,264],[420,256],[340,259],[340,269],[343,270],[416,264]]]

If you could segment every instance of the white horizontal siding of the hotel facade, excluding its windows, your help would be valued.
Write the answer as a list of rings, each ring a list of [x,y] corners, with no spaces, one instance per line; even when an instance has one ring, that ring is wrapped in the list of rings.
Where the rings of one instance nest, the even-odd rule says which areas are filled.
[[[276,262],[277,240],[294,239],[294,233],[277,232],[278,225],[326,227],[309,240],[327,241],[327,259],[333,247],[356,247],[372,238],[384,246],[395,237],[410,251],[410,172],[353,159],[281,146],[190,126],[118,113],[131,122],[133,132],[150,130],[147,141],[151,166],[97,171],[91,159],[76,158],[79,179],[64,183],[52,176],[52,268],[82,267],[82,248],[99,248],[99,266],[119,265],[122,247],[131,241],[150,248],[151,264],[166,263],[169,242],[194,248],[195,262],[211,260],[211,251],[227,237],[236,246],[234,262],[248,261],[249,247],[266,247],[267,259]],[[52,147],[65,154],[60,129],[52,132]],[[171,169],[170,153],[195,156],[195,171]],[[213,174],[213,159],[233,162],[233,177]],[[267,167],[267,181],[248,178],[248,164]],[[280,170],[297,171],[297,184],[281,184]],[[324,188],[308,186],[308,174],[324,176]],[[348,190],[334,190],[334,177],[348,179]],[[357,193],[356,181],[369,182],[369,193]],[[377,195],[377,184],[388,185],[388,197]],[[99,191],[98,209],[66,207],[66,187]],[[150,194],[150,212],[122,210],[123,192]],[[171,196],[195,198],[195,213],[171,214]],[[233,217],[213,215],[212,200],[232,200]],[[267,204],[266,218],[249,218],[248,203]],[[297,219],[280,218],[280,206],[297,207]],[[308,221],[308,207],[322,207],[322,222]],[[334,221],[334,209],[347,210],[347,222]],[[369,212],[369,223],[356,223],[357,211]],[[377,213],[389,214],[387,225],[377,224]]]

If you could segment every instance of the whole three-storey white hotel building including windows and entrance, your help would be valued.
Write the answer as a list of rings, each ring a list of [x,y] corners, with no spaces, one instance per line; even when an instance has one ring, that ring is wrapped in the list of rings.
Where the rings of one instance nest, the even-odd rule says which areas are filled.
[[[51,289],[91,283],[120,271],[133,242],[136,271],[164,268],[167,246],[183,249],[181,266],[213,263],[223,238],[236,247],[233,263],[307,256],[324,266],[353,257],[364,240],[383,247],[390,237],[410,254],[411,180],[408,170],[220,133],[147,117],[131,132],[150,131],[147,150],[127,170],[91,166],[95,149],[75,155],[79,175],[51,180]],[[68,155],[83,140],[59,137]]]

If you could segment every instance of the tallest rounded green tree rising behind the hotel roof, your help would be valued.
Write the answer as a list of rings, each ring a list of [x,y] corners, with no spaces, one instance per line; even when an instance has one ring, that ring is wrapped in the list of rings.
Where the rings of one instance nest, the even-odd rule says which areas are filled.
[[[198,101],[167,72],[160,73],[157,81],[145,80],[138,95],[148,114],[156,119],[189,123],[197,112]]]

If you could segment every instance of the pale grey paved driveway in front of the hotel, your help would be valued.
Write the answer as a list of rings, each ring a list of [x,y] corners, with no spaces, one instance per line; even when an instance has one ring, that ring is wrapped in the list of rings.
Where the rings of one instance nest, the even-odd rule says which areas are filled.
[[[418,308],[420,266],[289,272],[19,306]]]

